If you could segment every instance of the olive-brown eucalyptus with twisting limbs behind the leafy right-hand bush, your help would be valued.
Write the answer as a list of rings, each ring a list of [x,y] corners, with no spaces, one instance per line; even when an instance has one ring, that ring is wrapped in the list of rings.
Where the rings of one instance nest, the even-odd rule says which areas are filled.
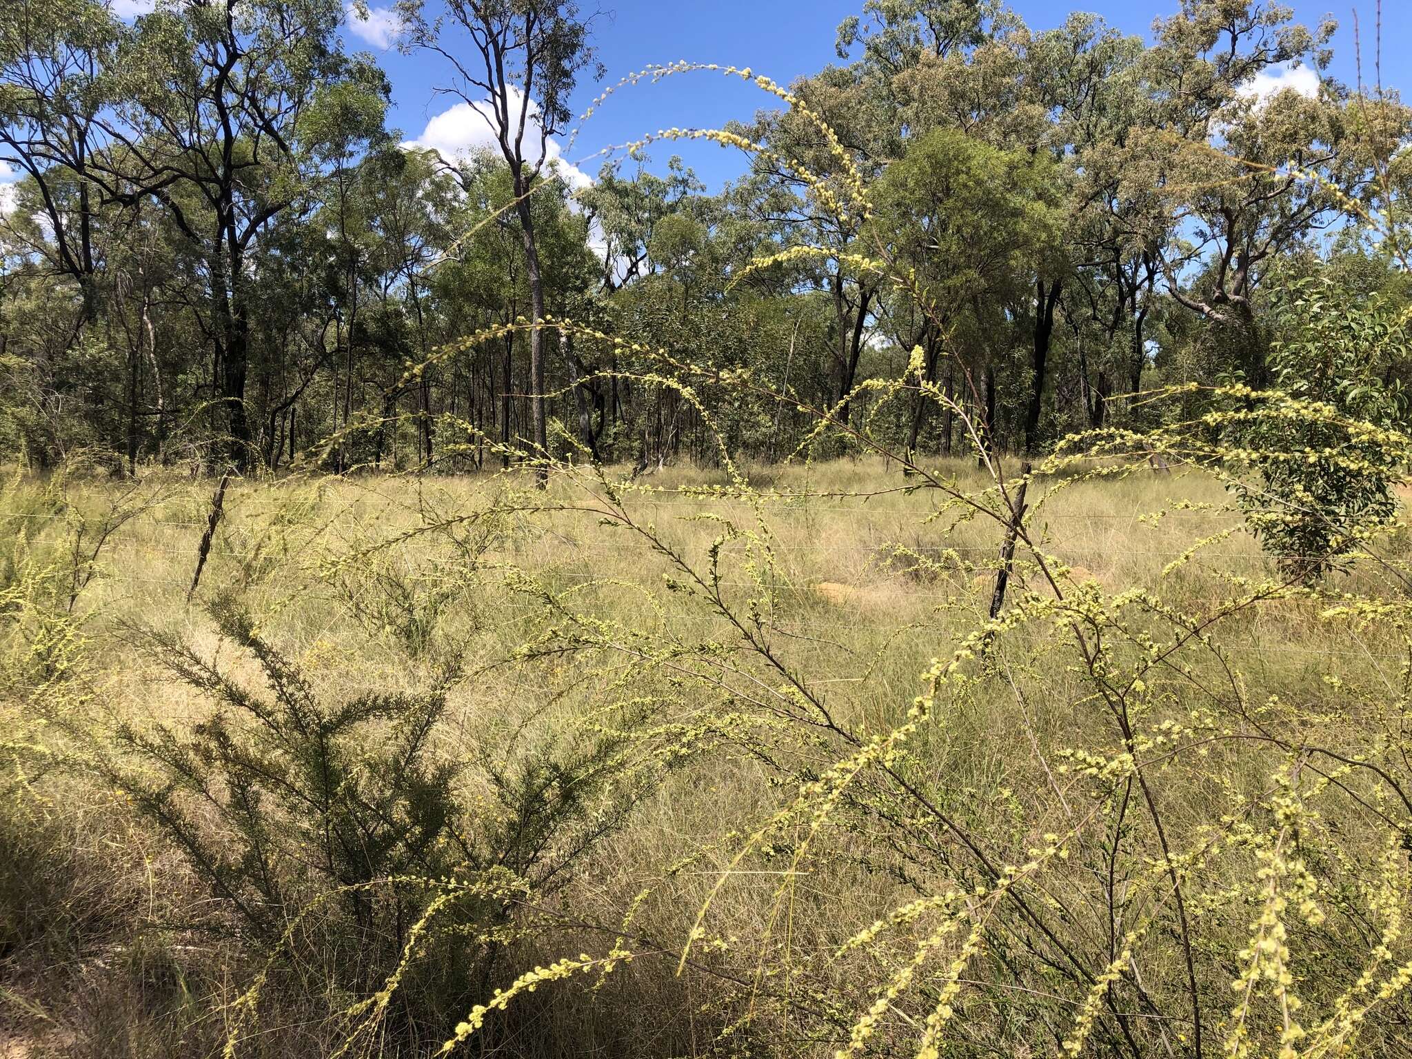
[[[1310,31],[1258,0],[1183,0],[1142,56],[1151,119],[1128,147],[1123,192],[1161,203],[1166,294],[1254,385],[1268,381],[1252,302],[1265,267],[1336,223],[1365,179],[1347,150],[1346,89],[1320,79],[1312,96],[1268,95],[1255,79],[1322,69],[1334,28]]]

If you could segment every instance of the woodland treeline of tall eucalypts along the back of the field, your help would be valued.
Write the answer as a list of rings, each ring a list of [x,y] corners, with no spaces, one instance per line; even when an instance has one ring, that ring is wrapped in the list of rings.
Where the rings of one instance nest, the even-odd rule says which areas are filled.
[[[866,0],[837,62],[789,86],[846,158],[802,109],[762,109],[709,137],[760,148],[719,193],[648,165],[690,130],[592,186],[546,161],[604,73],[609,30],[575,4],[398,14],[491,150],[404,145],[340,0],[0,4],[8,457],[466,470],[546,446],[647,469],[712,460],[713,432],[778,459],[820,411],[960,452],[945,405],[858,390],[909,360],[984,443],[1032,452],[1141,418],[1123,395],[1149,385],[1265,384],[1295,280],[1408,298],[1361,222],[1401,223],[1412,113],[1329,76],[1334,27],[1275,4],[1182,0],[1144,40],[991,0]],[[741,51],[722,58],[770,72]],[[613,104],[628,92],[651,88]],[[829,192],[857,174],[871,213]]]

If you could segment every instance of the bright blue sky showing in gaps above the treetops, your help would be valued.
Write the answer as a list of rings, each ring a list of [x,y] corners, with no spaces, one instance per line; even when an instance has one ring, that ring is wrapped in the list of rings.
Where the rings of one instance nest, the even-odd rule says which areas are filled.
[[[127,3],[141,0],[121,0]],[[460,113],[445,114],[432,127],[428,124],[443,114],[452,100],[438,96],[433,89],[445,83],[445,69],[433,58],[397,54],[385,44],[395,30],[388,8],[373,0],[373,23],[350,24],[345,32],[349,48],[370,49],[378,55],[393,82],[393,113],[390,123],[408,138],[446,145],[457,137],[474,136],[477,119],[463,107]],[[1354,34],[1353,3],[1332,7],[1329,0],[1286,0],[1299,21],[1315,25],[1326,14],[1339,20],[1334,40],[1333,75],[1353,80]],[[802,73],[810,73],[834,56],[834,31],[850,14],[861,11],[863,0],[696,0],[666,4],[661,0],[602,0],[604,14],[596,23],[594,45],[607,66],[604,83],[613,83],[624,73],[655,62],[734,64],[751,66],[775,80],[788,83]],[[1087,10],[1103,16],[1125,32],[1148,34],[1152,20],[1171,14],[1178,0],[1012,0],[1011,7],[1032,28],[1051,28],[1063,21],[1070,10]],[[592,0],[583,0],[590,8]],[[1372,0],[1358,0],[1364,76],[1372,79],[1372,41],[1375,6]],[[361,40],[360,40],[361,38]],[[1404,66],[1402,56],[1412,48],[1412,0],[1384,0],[1382,11],[1382,72],[1385,83],[1396,86]],[[582,109],[602,89],[586,82],[576,93],[576,110]],[[579,138],[568,148],[570,161],[582,162],[589,175],[596,174],[597,160],[586,160],[592,151],[609,144],[620,144],[657,128],[719,127],[730,119],[747,119],[760,106],[772,102],[758,89],[736,79],[712,73],[690,73],[669,78],[655,85],[642,83],[616,95],[583,127]],[[654,162],[665,162],[672,152],[682,154],[698,174],[716,188],[743,169],[738,154],[709,144],[661,144],[652,150]],[[657,167],[654,167],[657,168]]]

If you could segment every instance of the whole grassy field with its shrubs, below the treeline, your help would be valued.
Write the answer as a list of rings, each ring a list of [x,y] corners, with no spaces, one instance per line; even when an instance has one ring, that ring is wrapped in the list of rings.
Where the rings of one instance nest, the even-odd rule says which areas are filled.
[[[1083,466],[995,620],[962,463],[237,480],[191,600],[208,486],[11,479],[4,1032],[1398,1053],[1402,532]]]

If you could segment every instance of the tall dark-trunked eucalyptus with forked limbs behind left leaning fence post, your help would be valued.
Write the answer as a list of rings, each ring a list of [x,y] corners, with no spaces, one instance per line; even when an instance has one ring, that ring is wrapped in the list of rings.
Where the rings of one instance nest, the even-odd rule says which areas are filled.
[[[109,83],[114,141],[97,178],[121,205],[155,201],[209,268],[215,397],[229,457],[251,459],[246,409],[251,254],[265,226],[306,203],[346,124],[321,106],[380,121],[387,83],[337,41],[337,0],[160,6],[119,41]],[[347,95],[364,97],[350,104]]]

